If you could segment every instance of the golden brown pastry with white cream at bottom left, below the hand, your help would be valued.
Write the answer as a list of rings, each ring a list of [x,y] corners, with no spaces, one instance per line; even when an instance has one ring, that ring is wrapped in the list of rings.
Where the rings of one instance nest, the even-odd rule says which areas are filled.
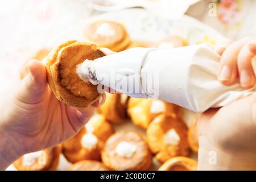
[[[18,171],[53,171],[59,164],[61,146],[25,154],[14,162]]]

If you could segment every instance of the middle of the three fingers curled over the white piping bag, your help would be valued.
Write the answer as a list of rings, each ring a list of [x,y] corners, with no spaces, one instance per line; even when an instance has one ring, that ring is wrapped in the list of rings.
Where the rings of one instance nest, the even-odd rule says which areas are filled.
[[[238,76],[237,56],[241,48],[251,40],[251,38],[243,38],[237,42],[230,44],[223,52],[220,60],[220,70],[218,80],[224,85],[233,84]]]

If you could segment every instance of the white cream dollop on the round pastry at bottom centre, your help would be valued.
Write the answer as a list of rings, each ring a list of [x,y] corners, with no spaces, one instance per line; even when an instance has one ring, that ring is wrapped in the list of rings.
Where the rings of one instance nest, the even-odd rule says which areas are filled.
[[[115,147],[115,153],[124,158],[130,158],[136,150],[137,147],[130,142],[120,142],[117,147]]]

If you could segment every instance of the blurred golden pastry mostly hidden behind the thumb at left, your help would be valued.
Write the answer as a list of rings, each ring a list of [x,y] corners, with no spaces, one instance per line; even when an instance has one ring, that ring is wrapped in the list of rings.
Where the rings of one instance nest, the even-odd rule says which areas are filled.
[[[31,57],[31,59],[42,61],[44,57],[48,55],[49,52],[50,50],[47,48],[40,49],[38,52],[36,52],[34,56]],[[22,65],[22,69],[20,70],[20,73],[19,73],[20,80],[22,80],[28,74],[28,68],[27,68],[28,61],[29,60],[27,60],[26,63],[24,63],[24,65]]]

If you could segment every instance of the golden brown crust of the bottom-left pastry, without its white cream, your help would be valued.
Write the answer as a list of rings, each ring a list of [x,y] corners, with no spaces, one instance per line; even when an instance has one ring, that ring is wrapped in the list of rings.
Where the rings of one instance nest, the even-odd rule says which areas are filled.
[[[61,145],[43,150],[41,156],[34,164],[25,165],[23,156],[14,162],[14,167],[18,171],[54,171],[59,164]],[[29,154],[28,154],[29,155]]]

